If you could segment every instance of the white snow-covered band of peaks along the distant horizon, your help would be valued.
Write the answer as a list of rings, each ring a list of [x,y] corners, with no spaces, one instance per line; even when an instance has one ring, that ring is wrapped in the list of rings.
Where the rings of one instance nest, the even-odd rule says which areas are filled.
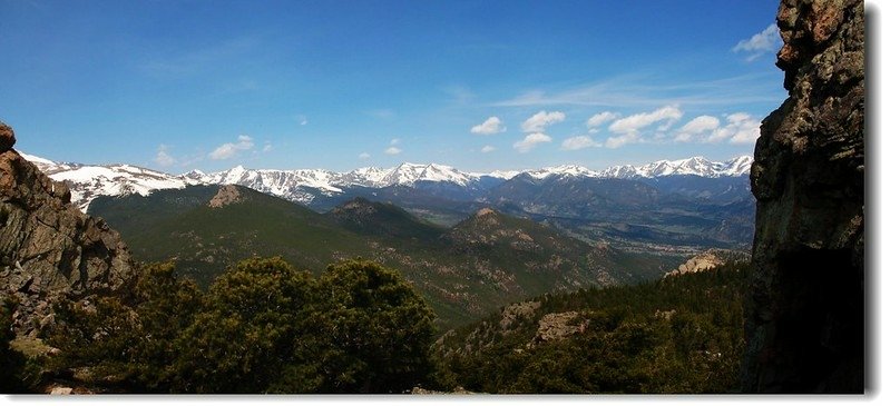
[[[549,177],[590,178],[658,178],[691,175],[704,178],[740,177],[751,170],[753,158],[741,156],[724,162],[702,157],[679,160],[659,160],[643,166],[617,166],[602,171],[581,166],[557,166],[536,170],[495,171],[489,174],[463,172],[437,164],[401,164],[394,168],[360,168],[349,172],[325,169],[246,169],[242,166],[205,174],[193,170],[170,175],[130,165],[82,165],[55,162],[22,154],[50,178],[65,181],[71,189],[71,200],[86,211],[98,196],[138,194],[146,196],[158,189],[180,189],[189,185],[241,185],[278,196],[291,201],[310,204],[316,196],[335,196],[348,188],[413,187],[423,184],[450,184],[462,188],[479,188],[485,182],[493,185],[515,176],[527,174],[536,179]]]

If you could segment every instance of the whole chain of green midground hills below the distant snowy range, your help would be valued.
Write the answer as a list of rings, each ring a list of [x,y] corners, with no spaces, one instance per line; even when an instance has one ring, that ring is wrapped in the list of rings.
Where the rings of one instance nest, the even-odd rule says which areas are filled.
[[[120,230],[137,259],[175,258],[177,269],[203,286],[254,255],[280,255],[315,273],[339,259],[373,259],[411,281],[442,326],[554,289],[657,278],[679,263],[594,248],[505,215],[497,215],[497,225],[469,219],[444,229],[392,205],[356,199],[321,215],[239,186],[101,197],[90,209]],[[522,234],[534,242],[508,242]],[[501,242],[477,244],[486,235]]]

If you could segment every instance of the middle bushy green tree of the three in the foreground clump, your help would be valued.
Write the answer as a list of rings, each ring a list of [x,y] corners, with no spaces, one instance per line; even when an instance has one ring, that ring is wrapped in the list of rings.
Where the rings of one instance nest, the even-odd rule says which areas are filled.
[[[291,365],[312,364],[294,348],[314,334],[307,318],[315,280],[281,258],[238,263],[211,287],[206,309],[176,339],[180,348],[177,390],[266,393],[270,388],[313,392],[304,372],[300,386],[282,385]],[[311,351],[309,351],[311,353]]]

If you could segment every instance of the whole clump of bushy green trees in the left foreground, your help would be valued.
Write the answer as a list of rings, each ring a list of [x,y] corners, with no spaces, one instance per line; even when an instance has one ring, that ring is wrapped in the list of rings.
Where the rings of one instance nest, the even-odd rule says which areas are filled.
[[[253,258],[207,293],[174,274],[149,265],[131,291],[60,305],[55,366],[129,392],[219,394],[400,393],[431,370],[432,311],[374,263],[314,278]]]

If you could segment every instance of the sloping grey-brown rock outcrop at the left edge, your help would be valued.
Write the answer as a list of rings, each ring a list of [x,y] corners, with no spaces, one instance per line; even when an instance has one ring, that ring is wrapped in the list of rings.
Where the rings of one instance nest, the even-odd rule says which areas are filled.
[[[51,323],[53,300],[119,289],[135,269],[117,231],[11,149],[11,128],[0,132],[0,299],[18,301],[16,333],[35,336]]]

